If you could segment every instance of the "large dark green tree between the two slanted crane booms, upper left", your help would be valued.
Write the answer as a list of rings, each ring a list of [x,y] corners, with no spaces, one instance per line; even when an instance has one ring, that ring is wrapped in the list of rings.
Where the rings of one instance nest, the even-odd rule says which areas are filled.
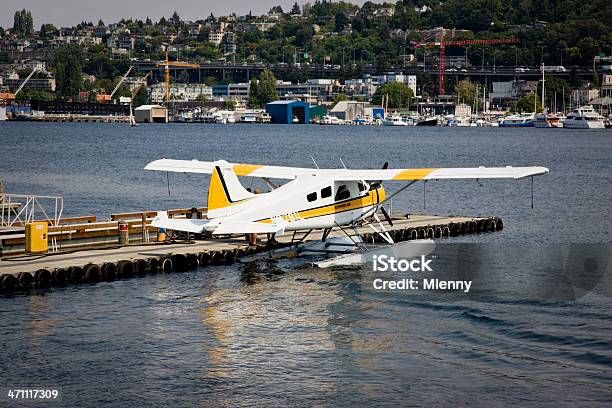
[[[76,45],[63,45],[55,53],[55,81],[61,97],[75,96],[83,84],[83,51]]]

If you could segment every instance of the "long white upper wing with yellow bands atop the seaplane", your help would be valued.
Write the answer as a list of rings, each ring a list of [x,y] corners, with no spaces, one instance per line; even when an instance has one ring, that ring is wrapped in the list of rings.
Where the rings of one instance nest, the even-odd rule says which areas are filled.
[[[519,179],[548,173],[546,167],[473,167],[473,168],[429,168],[429,169],[312,169],[304,167],[266,166],[228,162],[206,162],[199,160],[155,160],[145,170],[173,171],[179,173],[212,174],[213,168],[222,164],[231,168],[237,176],[295,179],[299,176],[329,176],[339,181],[351,180],[431,180],[431,179]]]

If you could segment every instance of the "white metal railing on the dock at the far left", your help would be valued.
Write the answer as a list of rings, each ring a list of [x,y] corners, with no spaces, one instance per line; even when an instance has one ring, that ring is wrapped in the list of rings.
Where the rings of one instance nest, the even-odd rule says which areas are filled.
[[[24,226],[32,221],[59,225],[64,211],[64,198],[29,194],[0,195],[0,226]]]

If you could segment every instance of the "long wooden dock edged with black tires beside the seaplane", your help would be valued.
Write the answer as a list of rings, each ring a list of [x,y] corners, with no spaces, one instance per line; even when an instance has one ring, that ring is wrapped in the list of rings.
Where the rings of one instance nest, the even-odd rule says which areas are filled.
[[[205,209],[181,209],[173,210],[170,213],[179,217],[201,217],[202,210]],[[11,255],[4,255],[0,259],[0,290],[10,292],[33,288],[45,289],[51,286],[127,279],[149,273],[185,272],[210,264],[231,264],[243,256],[270,249],[269,246],[266,246],[265,235],[259,237],[261,245],[257,247],[250,247],[243,235],[223,239],[207,238],[179,242],[155,242],[154,240],[154,242],[143,243],[142,231],[154,230],[155,236],[157,234],[157,229],[148,225],[149,216],[153,215],[154,212],[146,212],[115,214],[111,217],[113,219],[137,218],[133,221],[131,228],[132,231],[140,232],[140,234],[135,238],[135,243],[123,246],[118,244],[118,221],[97,223],[86,217],[90,221],[87,224],[54,227],[64,229],[60,234],[63,234],[61,237],[68,242],[63,249],[56,253],[25,254],[22,250],[20,253],[17,251]],[[497,217],[395,214],[392,218],[393,226],[386,226],[386,228],[396,242],[421,238],[446,239],[503,229],[503,222]],[[79,220],[80,217],[75,219]],[[79,232],[79,228],[83,226],[93,228]],[[365,241],[380,242],[380,237],[373,234],[367,227],[363,227],[359,232]],[[314,231],[307,240],[320,239],[321,234],[320,231]],[[334,230],[330,236],[342,234],[342,231]],[[5,236],[3,240],[0,239],[0,243],[23,241],[23,238],[17,235],[19,234],[13,231],[7,235],[8,238]],[[98,235],[103,238],[102,241],[92,241],[93,244],[89,242]],[[279,237],[278,246],[290,242],[291,237],[291,234]],[[81,243],[70,243],[72,238],[75,241],[81,240]],[[88,249],[92,245],[94,248]]]

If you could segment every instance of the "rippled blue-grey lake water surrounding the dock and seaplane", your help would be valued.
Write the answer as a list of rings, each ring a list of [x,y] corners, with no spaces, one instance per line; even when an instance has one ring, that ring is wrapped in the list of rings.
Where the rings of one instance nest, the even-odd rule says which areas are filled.
[[[609,130],[0,122],[0,140],[6,191],[100,219],[206,204],[206,176],[171,174],[169,195],[165,174],[142,170],[160,157],[550,169],[533,209],[530,180],[432,181],[425,206],[422,183],[394,199],[504,220],[436,246],[435,277],[473,280],[469,293],[377,291],[370,267],[304,260],[17,293],[0,297],[5,386],[61,387],[63,406],[612,400]]]

